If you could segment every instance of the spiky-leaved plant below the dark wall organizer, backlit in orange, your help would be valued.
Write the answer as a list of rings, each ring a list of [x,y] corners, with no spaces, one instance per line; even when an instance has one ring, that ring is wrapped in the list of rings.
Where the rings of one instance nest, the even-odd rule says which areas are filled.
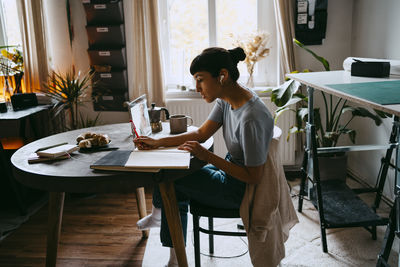
[[[92,78],[94,73],[91,70],[81,73],[71,68],[66,73],[52,71],[48,77],[47,84],[44,85],[44,93],[54,100],[55,116],[61,111],[66,110],[69,117],[68,130],[85,127],[85,121],[79,112],[79,107],[85,102],[86,92],[92,87]],[[97,123],[99,115],[90,124]],[[79,121],[80,119],[80,121]],[[79,125],[79,122],[81,125]]]

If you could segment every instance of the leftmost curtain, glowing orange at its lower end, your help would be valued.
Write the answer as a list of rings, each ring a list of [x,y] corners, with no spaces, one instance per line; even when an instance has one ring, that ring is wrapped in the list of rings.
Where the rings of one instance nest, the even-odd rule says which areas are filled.
[[[24,51],[27,92],[39,91],[47,80],[48,64],[42,0],[17,0]]]

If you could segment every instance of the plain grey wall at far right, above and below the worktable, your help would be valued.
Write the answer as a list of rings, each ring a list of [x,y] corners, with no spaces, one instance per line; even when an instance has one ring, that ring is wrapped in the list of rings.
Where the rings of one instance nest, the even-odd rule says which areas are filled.
[[[354,0],[351,55],[368,58],[400,59],[400,1]],[[376,127],[370,121],[357,120],[352,127],[357,130],[359,144],[387,144],[392,120]],[[374,185],[385,151],[354,153],[350,155],[350,169],[370,185]],[[393,198],[394,172],[390,171],[384,194]]]

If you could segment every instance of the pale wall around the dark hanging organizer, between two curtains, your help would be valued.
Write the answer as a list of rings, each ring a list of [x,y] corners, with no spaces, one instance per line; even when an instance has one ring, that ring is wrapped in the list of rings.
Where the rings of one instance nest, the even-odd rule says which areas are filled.
[[[69,42],[68,22],[65,4],[60,4],[54,0],[44,0],[44,17],[47,31],[47,47],[50,53],[50,67],[56,71],[64,72],[72,64],[76,70],[86,71],[89,69],[89,57],[87,53],[88,39],[86,34],[86,14],[82,5],[82,0],[70,0],[71,21],[73,25],[74,38],[72,47]],[[63,2],[64,3],[64,2]],[[125,22],[132,18],[131,1],[124,1]],[[125,23],[125,25],[130,25]],[[131,27],[126,27],[126,32],[131,31]],[[126,38],[126,45],[132,44],[132,36]],[[129,50],[129,49],[127,49]],[[129,53],[128,53],[129,57]],[[128,77],[129,64],[128,64]],[[131,77],[129,77],[131,79]],[[94,119],[98,112],[93,110],[91,103],[91,92],[87,92],[86,103],[80,108],[80,111]],[[101,112],[100,124],[119,123],[129,121],[128,112]]]

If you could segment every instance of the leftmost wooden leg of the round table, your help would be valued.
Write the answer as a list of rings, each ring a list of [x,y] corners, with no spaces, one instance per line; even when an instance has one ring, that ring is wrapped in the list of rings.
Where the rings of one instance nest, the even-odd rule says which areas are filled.
[[[65,192],[50,192],[46,267],[56,266]]]

